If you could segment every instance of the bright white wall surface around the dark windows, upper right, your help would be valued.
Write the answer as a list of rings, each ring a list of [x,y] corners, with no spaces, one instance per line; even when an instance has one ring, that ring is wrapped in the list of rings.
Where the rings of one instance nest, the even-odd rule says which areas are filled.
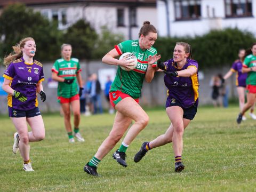
[[[256,0],[252,1],[253,17],[225,18],[225,4],[223,0],[202,0],[199,20],[175,21],[174,1],[169,0],[169,21],[171,36],[195,36],[208,33],[212,29],[239,28],[256,35]],[[207,9],[207,7],[209,7]],[[214,9],[214,11],[213,11]],[[215,14],[213,14],[213,12]],[[214,17],[215,16],[215,17]],[[157,28],[160,36],[167,36],[165,4],[157,1]]]

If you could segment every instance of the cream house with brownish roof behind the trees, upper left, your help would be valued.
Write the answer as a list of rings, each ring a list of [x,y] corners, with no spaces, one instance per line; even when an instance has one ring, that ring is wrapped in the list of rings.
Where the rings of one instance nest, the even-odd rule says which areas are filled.
[[[137,39],[143,21],[157,26],[156,0],[0,0],[0,9],[14,2],[25,3],[49,20],[58,21],[61,30],[85,19],[97,33],[101,26],[107,26],[125,39]]]

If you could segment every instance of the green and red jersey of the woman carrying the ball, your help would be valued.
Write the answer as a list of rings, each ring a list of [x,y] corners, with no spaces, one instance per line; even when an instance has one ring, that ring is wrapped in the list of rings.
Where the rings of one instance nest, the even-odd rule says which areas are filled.
[[[116,45],[115,49],[119,55],[126,52],[135,54],[138,59],[138,64],[137,67],[131,71],[125,71],[118,66],[115,80],[111,84],[110,92],[119,90],[137,99],[140,97],[143,79],[145,78],[148,68],[148,57],[149,55],[155,55],[157,51],[154,47],[150,47],[148,50],[141,50],[139,40],[124,41]],[[153,67],[154,66],[156,66],[156,63],[154,63]]]

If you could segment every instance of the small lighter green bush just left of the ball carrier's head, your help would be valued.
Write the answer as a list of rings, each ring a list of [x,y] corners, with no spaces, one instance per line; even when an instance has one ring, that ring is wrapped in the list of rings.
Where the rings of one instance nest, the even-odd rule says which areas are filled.
[[[93,58],[102,58],[108,51],[113,49],[115,45],[123,41],[124,36],[122,34],[113,34],[106,26],[101,27],[101,35],[95,44]]]

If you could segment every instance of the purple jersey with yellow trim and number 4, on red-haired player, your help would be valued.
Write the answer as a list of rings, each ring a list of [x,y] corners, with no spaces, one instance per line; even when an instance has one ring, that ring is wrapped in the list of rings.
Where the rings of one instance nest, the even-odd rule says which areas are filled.
[[[9,94],[8,106],[19,110],[30,110],[38,106],[37,83],[44,81],[42,63],[36,60],[33,63],[26,63],[23,58],[17,59],[10,63],[3,77],[11,81],[10,86],[13,90],[27,97],[27,101],[21,102]]]

